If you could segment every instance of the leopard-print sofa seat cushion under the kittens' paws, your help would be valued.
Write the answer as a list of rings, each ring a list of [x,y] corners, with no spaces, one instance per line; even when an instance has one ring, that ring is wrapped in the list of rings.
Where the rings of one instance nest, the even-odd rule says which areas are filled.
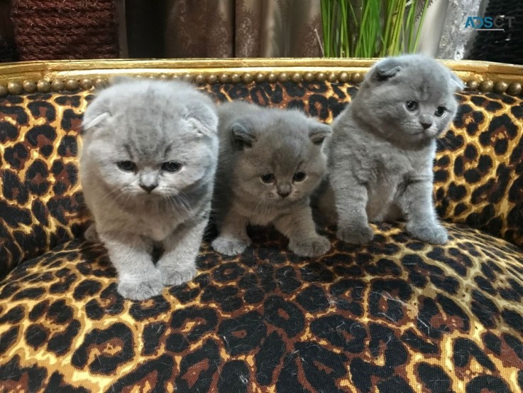
[[[314,262],[254,228],[243,255],[204,244],[193,281],[143,302],[116,293],[104,247],[74,239],[1,282],[0,386],[519,392],[523,251],[445,225],[445,247],[393,225],[364,247],[330,231],[331,252]]]

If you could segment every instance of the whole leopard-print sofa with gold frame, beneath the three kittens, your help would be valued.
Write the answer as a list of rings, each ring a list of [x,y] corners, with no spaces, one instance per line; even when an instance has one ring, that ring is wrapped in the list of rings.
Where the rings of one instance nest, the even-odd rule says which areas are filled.
[[[450,241],[402,225],[299,258],[270,228],[136,302],[86,242],[82,113],[113,75],[194,81],[216,101],[331,122],[373,60],[151,60],[0,68],[0,392],[521,392],[523,68],[447,62],[466,81],[434,162]],[[209,235],[209,237],[212,236]]]

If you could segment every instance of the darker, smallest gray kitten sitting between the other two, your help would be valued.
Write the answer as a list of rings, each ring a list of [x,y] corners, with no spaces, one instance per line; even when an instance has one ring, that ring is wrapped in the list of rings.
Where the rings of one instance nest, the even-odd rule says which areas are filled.
[[[240,254],[251,243],[248,224],[273,224],[302,257],[329,251],[316,233],[309,197],[326,174],[324,141],[332,129],[297,110],[246,102],[218,107],[220,154],[212,247]]]

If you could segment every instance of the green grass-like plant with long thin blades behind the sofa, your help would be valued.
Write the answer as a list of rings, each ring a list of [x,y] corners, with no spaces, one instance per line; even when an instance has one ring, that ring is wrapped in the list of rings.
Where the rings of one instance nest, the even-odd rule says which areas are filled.
[[[414,53],[431,0],[321,0],[326,58]]]

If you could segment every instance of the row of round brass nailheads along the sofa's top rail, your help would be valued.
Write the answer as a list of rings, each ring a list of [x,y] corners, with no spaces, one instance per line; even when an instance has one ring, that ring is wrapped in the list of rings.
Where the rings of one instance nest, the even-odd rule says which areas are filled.
[[[287,72],[257,72],[251,74],[251,72],[233,73],[233,74],[197,74],[191,75],[189,73],[180,75],[180,74],[165,74],[160,75],[136,75],[136,79],[158,79],[158,80],[185,80],[187,82],[194,82],[198,85],[204,85],[208,83],[209,85],[214,85],[216,83],[228,84],[228,83],[245,83],[249,84],[252,82],[255,83],[275,83],[275,82],[324,82],[329,81],[331,83],[345,83],[351,81],[352,83],[358,84],[363,82],[365,72],[292,72],[291,74]],[[62,92],[66,91],[76,91],[79,89],[82,90],[91,90],[101,89],[109,85],[109,80],[104,77],[97,78],[83,78],[82,80],[77,79],[55,79],[55,80],[23,80],[23,82],[8,82],[7,85],[0,85],[0,97],[6,95],[20,95],[23,92],[33,93],[47,93],[47,92]],[[522,83],[520,82],[504,82],[502,80],[493,81],[493,80],[467,80],[466,85],[468,90],[479,91],[482,93],[496,92],[496,93],[505,93],[507,95],[519,96],[523,92]]]

